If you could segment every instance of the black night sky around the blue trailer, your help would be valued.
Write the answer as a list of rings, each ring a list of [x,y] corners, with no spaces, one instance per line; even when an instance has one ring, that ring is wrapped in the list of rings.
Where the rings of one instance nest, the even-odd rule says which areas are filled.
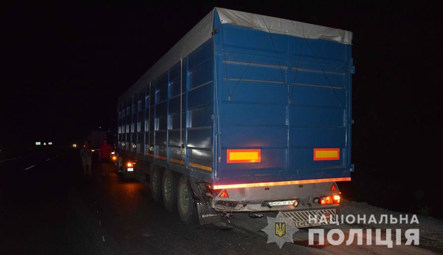
[[[118,96],[215,6],[352,31],[356,198],[442,194],[430,178],[443,170],[441,9],[412,1],[3,6],[2,146],[68,144],[108,127]]]

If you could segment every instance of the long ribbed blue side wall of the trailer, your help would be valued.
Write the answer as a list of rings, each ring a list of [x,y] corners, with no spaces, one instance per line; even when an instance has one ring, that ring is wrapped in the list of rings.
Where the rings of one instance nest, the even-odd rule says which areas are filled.
[[[123,154],[213,183],[214,41],[119,104]]]

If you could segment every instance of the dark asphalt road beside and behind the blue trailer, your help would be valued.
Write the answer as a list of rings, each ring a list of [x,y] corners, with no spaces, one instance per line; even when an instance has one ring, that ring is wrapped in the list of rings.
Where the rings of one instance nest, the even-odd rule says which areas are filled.
[[[0,254],[427,254],[401,246],[267,244],[266,219],[237,215],[229,227],[185,225],[149,187],[115,173],[82,175],[78,151],[45,151],[0,162]]]

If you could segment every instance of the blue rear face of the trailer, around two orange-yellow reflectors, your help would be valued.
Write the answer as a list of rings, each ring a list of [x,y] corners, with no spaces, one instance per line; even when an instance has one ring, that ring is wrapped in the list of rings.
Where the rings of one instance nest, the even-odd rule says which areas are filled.
[[[215,20],[215,183],[350,177],[350,46]],[[315,148],[340,159],[315,161]],[[260,149],[261,161],[227,163],[227,149]]]

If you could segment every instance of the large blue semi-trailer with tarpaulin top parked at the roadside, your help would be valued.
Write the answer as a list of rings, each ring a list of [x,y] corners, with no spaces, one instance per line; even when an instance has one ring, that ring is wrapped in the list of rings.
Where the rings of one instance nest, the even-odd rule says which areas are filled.
[[[119,97],[119,172],[186,223],[283,211],[320,225],[353,171],[351,39],[213,9]]]

